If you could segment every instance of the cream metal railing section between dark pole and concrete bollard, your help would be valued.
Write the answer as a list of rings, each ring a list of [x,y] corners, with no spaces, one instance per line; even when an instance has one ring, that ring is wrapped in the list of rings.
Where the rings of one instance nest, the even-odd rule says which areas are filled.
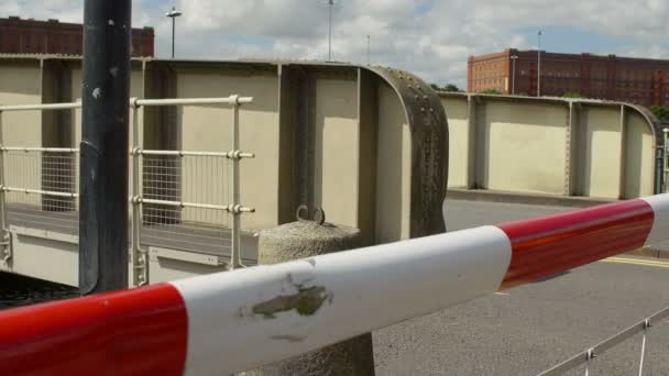
[[[202,225],[208,221],[197,218],[193,210],[199,210],[201,215],[208,217],[211,223],[230,225],[230,263],[231,269],[244,266],[241,262],[241,214],[253,212],[253,208],[244,207],[240,202],[240,161],[253,158],[252,153],[240,151],[239,142],[239,109],[243,103],[251,103],[253,98],[241,98],[230,96],[228,98],[188,98],[188,99],[136,99],[130,100],[133,109],[132,131],[132,222],[142,225],[132,226],[132,263],[133,284],[144,285],[149,281],[149,252],[142,244],[141,226],[152,225],[154,232],[163,235],[177,234],[183,237],[195,237],[190,241],[198,244],[198,239],[224,237],[224,231],[220,226]],[[232,145],[227,152],[199,152],[199,151],[158,151],[144,150],[140,145],[139,110],[141,107],[153,106],[201,106],[218,104],[232,106]],[[176,161],[174,158],[179,158]],[[229,174],[227,162],[231,162],[231,174]],[[193,168],[198,166],[198,168]],[[224,177],[229,180],[232,175],[232,185],[229,189],[221,185],[213,187],[211,183],[220,183]],[[177,179],[198,180],[191,191],[185,192],[175,184]],[[143,189],[142,183],[147,185]],[[206,188],[206,191],[200,189]],[[193,197],[194,201],[176,200],[175,198]],[[231,197],[230,197],[231,196]],[[228,198],[227,202],[220,202],[220,198]],[[144,215],[142,215],[144,213]],[[232,223],[224,220],[224,214],[232,215]],[[199,220],[198,220],[199,219]],[[194,226],[189,223],[197,223]]]

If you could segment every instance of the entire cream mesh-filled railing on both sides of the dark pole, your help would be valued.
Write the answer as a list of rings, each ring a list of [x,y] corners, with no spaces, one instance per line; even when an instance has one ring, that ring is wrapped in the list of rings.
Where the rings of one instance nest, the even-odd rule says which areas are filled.
[[[131,244],[133,284],[149,283],[145,245],[172,237],[176,248],[230,251],[231,269],[241,259],[241,214],[253,212],[240,201],[240,107],[253,98],[176,98],[130,100]],[[229,151],[145,150],[141,145],[140,109],[157,106],[228,106],[232,108]],[[0,261],[12,257],[9,223],[78,233],[79,150],[4,145],[2,113],[76,110],[80,102],[0,106]],[[41,140],[40,140],[41,142]],[[188,183],[188,184],[185,184]],[[212,246],[213,244],[213,246]]]

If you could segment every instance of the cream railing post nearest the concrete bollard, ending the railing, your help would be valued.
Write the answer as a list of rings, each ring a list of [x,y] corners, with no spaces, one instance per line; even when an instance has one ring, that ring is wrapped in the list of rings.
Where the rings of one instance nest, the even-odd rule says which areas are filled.
[[[232,114],[232,244],[231,244],[231,263],[230,268],[235,269],[242,266],[241,256],[241,202],[240,202],[240,184],[239,184],[239,97],[231,96],[233,101]]]

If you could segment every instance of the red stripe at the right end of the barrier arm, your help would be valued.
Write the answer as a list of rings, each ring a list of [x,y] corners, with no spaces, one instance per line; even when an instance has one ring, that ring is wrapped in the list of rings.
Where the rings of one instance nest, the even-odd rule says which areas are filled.
[[[646,201],[629,200],[500,224],[512,243],[502,288],[636,250],[646,242],[654,217]]]

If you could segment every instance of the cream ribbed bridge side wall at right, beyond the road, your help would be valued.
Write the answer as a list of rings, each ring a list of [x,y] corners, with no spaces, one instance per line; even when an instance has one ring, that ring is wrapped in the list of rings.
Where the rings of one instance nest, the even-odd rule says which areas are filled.
[[[654,193],[652,123],[591,100],[441,93],[450,187],[634,198]]]

